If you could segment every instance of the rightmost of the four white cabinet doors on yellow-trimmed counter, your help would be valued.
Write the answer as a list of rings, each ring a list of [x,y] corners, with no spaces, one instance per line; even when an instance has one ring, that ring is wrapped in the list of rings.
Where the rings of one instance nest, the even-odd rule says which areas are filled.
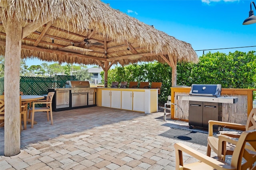
[[[145,92],[133,92],[133,110],[145,112]]]

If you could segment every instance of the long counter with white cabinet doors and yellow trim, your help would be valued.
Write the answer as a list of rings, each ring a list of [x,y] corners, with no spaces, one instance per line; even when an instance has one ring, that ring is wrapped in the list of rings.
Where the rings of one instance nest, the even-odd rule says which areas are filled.
[[[158,112],[158,89],[97,88],[96,105],[142,113]]]

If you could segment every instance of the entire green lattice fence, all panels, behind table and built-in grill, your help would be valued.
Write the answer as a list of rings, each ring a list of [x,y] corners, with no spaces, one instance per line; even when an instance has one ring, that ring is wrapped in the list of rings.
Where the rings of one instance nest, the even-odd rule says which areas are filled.
[[[20,77],[20,91],[24,95],[45,95],[48,88],[65,87],[66,81],[76,80],[72,75],[55,75],[55,77]],[[4,77],[0,77],[0,94],[4,92]]]

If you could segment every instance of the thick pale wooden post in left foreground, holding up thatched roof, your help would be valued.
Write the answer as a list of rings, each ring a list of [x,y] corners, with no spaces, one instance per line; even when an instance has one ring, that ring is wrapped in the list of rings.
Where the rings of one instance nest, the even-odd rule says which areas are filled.
[[[15,18],[2,18],[6,31],[4,63],[4,155],[20,153],[20,54],[22,25]],[[7,21],[8,20],[8,21]]]

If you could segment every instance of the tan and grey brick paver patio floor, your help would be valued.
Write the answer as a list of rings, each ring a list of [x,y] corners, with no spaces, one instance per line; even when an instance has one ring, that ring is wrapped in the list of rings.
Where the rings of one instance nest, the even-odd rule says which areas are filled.
[[[144,114],[106,107],[74,109],[54,112],[54,125],[47,122],[46,113],[36,113],[38,124],[21,132],[21,152],[16,156],[3,156],[4,128],[0,129],[0,169],[172,170],[174,143],[206,153],[206,146],[161,136],[172,127],[189,127],[170,118],[170,126],[164,126],[161,110]],[[184,160],[196,161],[186,155]]]

